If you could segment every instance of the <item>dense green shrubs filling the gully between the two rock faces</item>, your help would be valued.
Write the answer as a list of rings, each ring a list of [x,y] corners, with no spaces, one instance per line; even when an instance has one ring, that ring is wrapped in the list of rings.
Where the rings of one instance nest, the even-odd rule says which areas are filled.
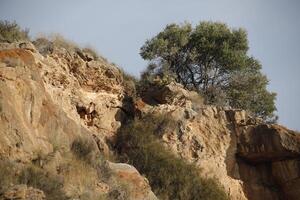
[[[118,134],[116,148],[149,180],[154,192],[166,200],[227,199],[212,179],[201,178],[199,169],[176,157],[157,139],[165,117],[146,116],[134,120]]]

